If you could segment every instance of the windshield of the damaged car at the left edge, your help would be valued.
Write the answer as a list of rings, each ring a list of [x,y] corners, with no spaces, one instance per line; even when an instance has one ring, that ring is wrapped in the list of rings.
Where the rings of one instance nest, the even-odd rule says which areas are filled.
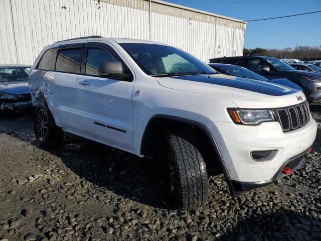
[[[28,80],[30,68],[0,68],[0,82]]]

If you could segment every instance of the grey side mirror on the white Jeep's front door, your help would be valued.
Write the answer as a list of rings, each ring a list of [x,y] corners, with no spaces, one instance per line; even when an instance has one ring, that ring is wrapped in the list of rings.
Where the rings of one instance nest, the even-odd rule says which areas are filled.
[[[99,65],[98,73],[100,76],[124,80],[130,77],[130,74],[124,73],[120,61],[107,61]]]

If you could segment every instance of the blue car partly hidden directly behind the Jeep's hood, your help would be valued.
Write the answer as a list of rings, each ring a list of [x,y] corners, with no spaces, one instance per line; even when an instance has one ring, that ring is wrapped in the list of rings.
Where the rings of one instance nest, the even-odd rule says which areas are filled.
[[[288,86],[288,87],[303,91],[303,89],[300,86],[298,86],[297,84],[294,84],[293,82],[289,81],[288,79],[267,79],[267,78],[263,77],[262,75],[254,73],[253,71],[248,70],[247,68],[244,68],[244,67],[241,67],[238,65],[209,64],[209,66],[221,74],[226,74],[226,75],[241,77],[241,78],[247,78],[247,79],[256,79],[256,80],[261,80],[261,81],[267,81],[270,83],[281,84],[284,86]]]

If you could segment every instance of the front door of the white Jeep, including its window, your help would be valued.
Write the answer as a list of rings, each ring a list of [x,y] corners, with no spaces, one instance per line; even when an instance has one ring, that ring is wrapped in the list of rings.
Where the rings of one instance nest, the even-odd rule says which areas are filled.
[[[133,150],[134,81],[121,81],[98,75],[101,62],[119,60],[111,47],[90,43],[90,47],[85,51],[85,71],[77,77],[75,94],[77,122],[81,127],[79,132],[110,146]]]

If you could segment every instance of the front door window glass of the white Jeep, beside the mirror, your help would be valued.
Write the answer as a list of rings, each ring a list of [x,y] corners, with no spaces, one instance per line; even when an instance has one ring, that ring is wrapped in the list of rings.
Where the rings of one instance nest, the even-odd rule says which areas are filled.
[[[88,75],[99,76],[99,65],[107,61],[115,61],[116,58],[105,49],[100,48],[88,48],[86,59],[86,71]]]

